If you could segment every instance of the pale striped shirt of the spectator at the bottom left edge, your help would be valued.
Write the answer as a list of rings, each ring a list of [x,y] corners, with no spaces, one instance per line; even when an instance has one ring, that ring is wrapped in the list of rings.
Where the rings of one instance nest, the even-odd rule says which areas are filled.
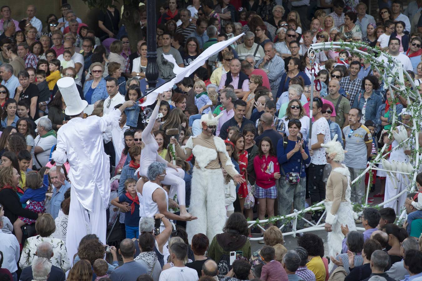
[[[11,273],[18,270],[19,243],[13,234],[3,233],[0,229],[0,251],[3,253],[2,268],[8,269]]]

